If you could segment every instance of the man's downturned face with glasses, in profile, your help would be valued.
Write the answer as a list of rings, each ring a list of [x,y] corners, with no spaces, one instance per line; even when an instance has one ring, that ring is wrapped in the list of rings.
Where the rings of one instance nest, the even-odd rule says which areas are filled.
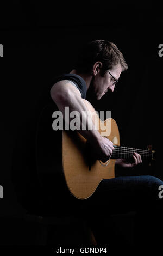
[[[116,80],[118,80],[122,72],[121,65],[118,64],[114,66],[111,70],[109,70],[109,72],[112,76],[115,77]],[[111,90],[111,92],[114,91],[115,80],[109,74],[109,72],[106,72],[104,77],[102,77],[100,73],[96,74],[96,76],[93,77],[93,81],[92,81],[93,94],[95,95],[97,100],[100,100],[102,96],[106,92],[108,92],[108,90]]]

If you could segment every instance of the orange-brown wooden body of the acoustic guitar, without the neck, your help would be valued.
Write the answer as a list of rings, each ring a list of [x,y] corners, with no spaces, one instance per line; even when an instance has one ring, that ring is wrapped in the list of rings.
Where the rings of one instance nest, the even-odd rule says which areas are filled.
[[[114,145],[120,145],[120,134],[114,119],[101,121],[92,105],[83,100],[88,111],[95,117],[94,123],[99,124],[99,133],[102,134],[104,126],[110,127],[106,136]],[[62,164],[66,184],[78,199],[89,198],[95,192],[103,179],[115,178],[115,161],[110,159],[102,161],[92,159],[86,139],[77,131],[62,132]]]

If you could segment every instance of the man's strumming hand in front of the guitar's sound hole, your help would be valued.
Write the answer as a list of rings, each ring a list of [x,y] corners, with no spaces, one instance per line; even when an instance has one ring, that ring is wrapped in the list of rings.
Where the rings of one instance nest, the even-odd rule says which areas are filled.
[[[113,143],[108,138],[100,136],[97,141],[91,143],[92,155],[96,159],[106,162],[110,159],[112,151],[114,150]]]

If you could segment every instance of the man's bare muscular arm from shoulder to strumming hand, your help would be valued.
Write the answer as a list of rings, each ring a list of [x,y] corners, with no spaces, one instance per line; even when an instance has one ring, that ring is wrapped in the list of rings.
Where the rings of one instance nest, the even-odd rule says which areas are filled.
[[[82,125],[83,121],[84,124],[86,124],[86,127],[92,127],[92,130],[82,130],[82,127],[80,126],[78,132],[90,142],[92,150],[98,159],[103,161],[108,160],[112,154],[112,150],[114,150],[113,143],[109,141],[109,139],[102,137],[99,131],[96,130],[91,115],[89,115],[88,109],[86,108],[76,85],[67,80],[59,81],[51,88],[51,97],[62,112],[63,117],[65,116],[65,107],[69,107],[70,113],[71,111],[79,112],[79,117],[77,117],[77,121],[80,122],[79,124]]]

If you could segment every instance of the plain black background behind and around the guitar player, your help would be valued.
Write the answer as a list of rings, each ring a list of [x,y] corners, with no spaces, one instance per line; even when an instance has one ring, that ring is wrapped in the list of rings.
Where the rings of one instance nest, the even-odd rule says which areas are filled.
[[[115,92],[107,93],[98,102],[92,101],[93,106],[111,111],[120,129],[121,145],[158,147],[163,62],[158,45],[163,42],[163,20],[159,4],[152,1],[10,1],[1,6],[0,43],[4,58],[0,71],[0,185],[4,188],[4,198],[0,199],[0,209],[3,220],[24,212],[11,180],[13,159],[16,155],[17,169],[22,168],[23,172],[21,154],[27,141],[33,153],[37,117],[49,98],[53,79],[71,71],[75,51],[86,41],[114,42],[129,66]],[[35,180],[35,168],[31,169],[32,173],[24,175]],[[160,168],[155,168],[153,175],[163,178]],[[32,197],[28,187],[24,190]],[[2,243],[14,243],[16,238],[9,238],[5,230],[4,227]]]

